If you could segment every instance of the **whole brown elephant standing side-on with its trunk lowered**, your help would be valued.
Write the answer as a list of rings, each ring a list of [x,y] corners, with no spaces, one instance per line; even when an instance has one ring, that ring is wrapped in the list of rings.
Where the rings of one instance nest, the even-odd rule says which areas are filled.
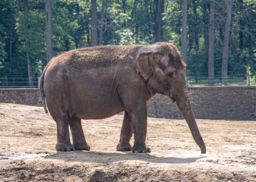
[[[40,95],[57,125],[55,149],[90,150],[81,119],[109,118],[124,111],[116,149],[150,152],[145,143],[147,100],[159,93],[176,102],[195,143],[205,153],[189,101],[185,67],[178,49],[169,42],[86,47],[52,58],[41,76]]]

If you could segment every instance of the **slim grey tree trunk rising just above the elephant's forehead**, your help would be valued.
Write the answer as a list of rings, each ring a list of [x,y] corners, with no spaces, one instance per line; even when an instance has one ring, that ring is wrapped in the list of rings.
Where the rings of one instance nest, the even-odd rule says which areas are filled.
[[[182,9],[182,59],[187,62],[187,17],[188,17],[188,1],[183,0]]]

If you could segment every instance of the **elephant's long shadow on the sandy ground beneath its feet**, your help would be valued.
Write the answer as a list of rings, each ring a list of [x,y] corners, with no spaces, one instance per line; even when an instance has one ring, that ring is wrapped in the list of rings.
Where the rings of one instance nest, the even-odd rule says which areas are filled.
[[[72,162],[95,162],[95,163],[113,163],[125,161],[141,161],[150,163],[166,163],[166,164],[189,164],[196,162],[206,156],[198,156],[192,158],[176,158],[176,157],[158,157],[150,155],[150,153],[132,153],[132,152],[56,152],[45,158],[60,159]]]

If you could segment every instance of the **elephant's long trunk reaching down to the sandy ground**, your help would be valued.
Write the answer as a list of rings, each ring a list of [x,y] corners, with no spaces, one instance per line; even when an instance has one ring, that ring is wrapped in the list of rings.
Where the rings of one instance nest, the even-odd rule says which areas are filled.
[[[194,141],[200,147],[201,153],[206,153],[204,140],[202,139],[201,134],[198,130],[198,124],[194,119],[194,113],[191,109],[187,88],[184,88],[182,94],[175,98],[175,102],[177,103],[179,110],[181,111],[183,117],[185,118],[185,121],[187,121],[188,127],[191,130]]]

